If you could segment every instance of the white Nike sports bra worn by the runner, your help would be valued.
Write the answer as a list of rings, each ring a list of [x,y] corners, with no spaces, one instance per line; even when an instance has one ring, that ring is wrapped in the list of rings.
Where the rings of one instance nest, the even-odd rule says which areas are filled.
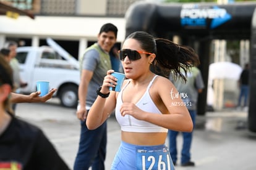
[[[155,103],[153,102],[149,94],[149,89],[156,77],[157,75],[155,75],[154,78],[150,81],[146,92],[142,95],[142,98],[135,105],[143,111],[155,114],[162,114],[161,111],[158,110],[158,108],[156,107]],[[130,81],[128,81],[128,83],[121,89],[117,96],[116,119],[121,126],[121,130],[126,132],[168,132],[168,129],[164,127],[148,123],[147,121],[135,119],[133,116],[130,115],[121,115],[120,108],[122,105],[122,92],[124,91],[124,89],[126,89],[129,83]]]

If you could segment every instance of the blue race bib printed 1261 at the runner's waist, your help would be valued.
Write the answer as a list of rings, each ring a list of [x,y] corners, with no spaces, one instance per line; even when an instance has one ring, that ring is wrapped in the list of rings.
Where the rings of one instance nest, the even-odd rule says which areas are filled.
[[[136,152],[138,170],[174,170],[166,147],[137,147]]]

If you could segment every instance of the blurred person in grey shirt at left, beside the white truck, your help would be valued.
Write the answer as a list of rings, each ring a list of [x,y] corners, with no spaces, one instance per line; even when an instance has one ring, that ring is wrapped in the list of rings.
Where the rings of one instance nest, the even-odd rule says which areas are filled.
[[[22,79],[20,78],[19,61],[15,58],[16,55],[17,55],[17,47],[18,47],[18,44],[15,41],[8,41],[5,44],[5,48],[10,50],[10,54],[9,54],[10,57],[11,57],[10,65],[12,67],[13,74],[14,74],[13,78],[14,78],[15,93],[19,94],[20,93],[20,88],[26,87],[27,83],[22,81]],[[16,104],[15,103],[12,104],[12,109],[15,111],[15,109],[16,109]]]

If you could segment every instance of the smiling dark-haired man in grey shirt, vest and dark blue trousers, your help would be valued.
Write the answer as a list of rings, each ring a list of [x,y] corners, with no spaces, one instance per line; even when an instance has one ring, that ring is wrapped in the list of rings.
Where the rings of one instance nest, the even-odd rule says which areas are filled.
[[[117,28],[112,23],[101,26],[98,41],[85,50],[80,62],[79,105],[77,118],[80,119],[79,150],[75,158],[74,170],[104,170],[107,134],[106,122],[94,130],[85,124],[87,113],[95,101],[96,89],[103,83],[106,71],[111,69],[109,52],[116,43]]]

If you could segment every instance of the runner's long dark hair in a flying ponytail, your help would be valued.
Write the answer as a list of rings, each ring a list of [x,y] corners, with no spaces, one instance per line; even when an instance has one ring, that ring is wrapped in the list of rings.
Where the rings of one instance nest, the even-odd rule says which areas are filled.
[[[154,38],[144,31],[136,31],[126,39],[136,39],[140,47],[146,52],[156,54],[153,68],[150,68],[156,74],[168,77],[170,71],[174,72],[174,78],[181,77],[186,81],[187,71],[200,62],[194,49],[188,46],[182,46],[163,38]],[[185,76],[181,72],[185,71]]]

